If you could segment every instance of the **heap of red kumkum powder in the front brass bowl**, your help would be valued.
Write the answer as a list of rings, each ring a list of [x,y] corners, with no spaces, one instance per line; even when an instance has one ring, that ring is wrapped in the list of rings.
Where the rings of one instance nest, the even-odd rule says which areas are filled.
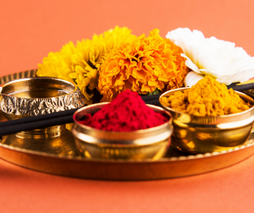
[[[87,114],[79,123],[106,131],[128,132],[159,126],[168,121],[146,106],[138,93],[126,90],[94,115]]]

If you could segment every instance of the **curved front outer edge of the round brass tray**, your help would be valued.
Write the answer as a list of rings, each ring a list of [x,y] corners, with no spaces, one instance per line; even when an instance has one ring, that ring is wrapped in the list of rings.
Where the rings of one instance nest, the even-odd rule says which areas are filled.
[[[200,175],[232,166],[254,153],[254,140],[228,151],[160,160],[92,160],[0,145],[0,158],[31,170],[72,178],[142,181]]]

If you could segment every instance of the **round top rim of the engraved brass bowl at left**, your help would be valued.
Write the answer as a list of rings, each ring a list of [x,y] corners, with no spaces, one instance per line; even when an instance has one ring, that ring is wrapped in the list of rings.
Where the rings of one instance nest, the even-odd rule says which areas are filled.
[[[31,98],[31,97],[19,97],[19,96],[16,96],[15,94],[8,94],[8,93],[2,93],[2,90],[4,87],[6,86],[9,86],[11,84],[14,84],[16,82],[22,82],[22,81],[32,81],[32,80],[54,80],[56,82],[63,82],[65,84],[68,84],[70,87],[73,87],[73,90],[71,92],[68,92],[66,94],[62,94],[62,95],[59,95],[59,96],[55,96],[55,97],[64,97],[64,96],[68,96],[72,93],[75,93],[78,89],[77,85],[73,84],[72,82],[70,81],[67,81],[67,80],[64,80],[64,79],[61,79],[61,78],[56,78],[56,77],[48,77],[48,76],[43,76],[43,77],[27,77],[27,78],[20,78],[20,79],[14,79],[14,80],[11,80],[11,81],[8,81],[6,83],[3,83],[2,85],[0,85],[0,96],[8,96],[8,97],[16,97],[16,98],[20,98],[20,99],[24,99],[24,100],[28,100],[28,99],[31,99],[31,100],[34,100],[34,99],[50,99],[50,98],[55,98],[55,97],[45,97],[45,98]]]

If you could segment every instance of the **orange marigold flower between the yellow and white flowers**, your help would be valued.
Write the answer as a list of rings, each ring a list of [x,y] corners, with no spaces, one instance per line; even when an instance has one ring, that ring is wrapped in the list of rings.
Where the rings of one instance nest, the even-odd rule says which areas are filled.
[[[111,101],[126,89],[147,94],[183,86],[188,68],[181,53],[180,47],[160,37],[158,29],[116,45],[100,66],[102,101]]]

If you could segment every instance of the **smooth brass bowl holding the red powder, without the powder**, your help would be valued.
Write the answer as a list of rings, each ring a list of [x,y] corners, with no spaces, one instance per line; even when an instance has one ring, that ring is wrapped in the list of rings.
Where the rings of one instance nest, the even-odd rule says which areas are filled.
[[[153,128],[131,132],[113,132],[98,130],[78,121],[86,114],[94,114],[108,103],[98,103],[83,107],[73,115],[72,133],[81,155],[94,159],[159,159],[169,148],[173,133],[170,113],[152,105],[155,112],[162,113],[169,121]]]

